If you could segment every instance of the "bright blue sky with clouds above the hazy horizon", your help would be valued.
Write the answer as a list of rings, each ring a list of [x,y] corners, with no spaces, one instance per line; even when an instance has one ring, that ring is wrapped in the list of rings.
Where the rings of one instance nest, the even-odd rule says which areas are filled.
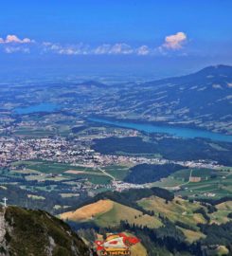
[[[232,64],[231,12],[231,0],[3,0],[0,58],[22,70],[162,63],[173,74]]]

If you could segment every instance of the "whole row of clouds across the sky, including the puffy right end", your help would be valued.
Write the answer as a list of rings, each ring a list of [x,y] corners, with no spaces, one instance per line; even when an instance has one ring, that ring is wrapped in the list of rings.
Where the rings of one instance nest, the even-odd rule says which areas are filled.
[[[137,55],[137,56],[167,56],[171,50],[179,50],[187,42],[187,35],[178,32],[165,38],[162,46],[155,48],[142,45],[130,46],[126,43],[102,44],[99,46],[88,46],[82,43],[73,45],[63,45],[51,42],[35,42],[29,38],[19,38],[16,35],[8,35],[5,39],[0,37],[0,49],[7,53],[13,52],[34,52],[43,54],[61,55]],[[32,44],[36,43],[36,44]],[[182,51],[181,51],[182,52]]]

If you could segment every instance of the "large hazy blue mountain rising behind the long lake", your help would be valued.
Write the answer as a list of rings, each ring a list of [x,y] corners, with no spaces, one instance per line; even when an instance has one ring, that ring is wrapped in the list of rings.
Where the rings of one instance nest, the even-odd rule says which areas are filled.
[[[99,87],[98,87],[99,88]],[[105,86],[104,86],[105,89]],[[208,66],[183,77],[108,87],[96,114],[232,133],[232,66]]]

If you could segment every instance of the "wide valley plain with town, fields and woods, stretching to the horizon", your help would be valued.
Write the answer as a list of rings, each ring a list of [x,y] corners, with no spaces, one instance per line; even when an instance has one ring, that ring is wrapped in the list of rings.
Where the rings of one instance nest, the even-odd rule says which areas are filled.
[[[11,203],[60,212],[107,191],[155,186],[193,199],[231,192],[231,143],[137,129],[147,125],[134,124],[140,114],[112,101],[121,93],[130,95],[134,82],[123,92],[119,83],[64,84],[22,81],[0,88],[0,190],[12,192]],[[96,115],[105,119],[96,121]],[[133,121],[123,127],[123,119]]]

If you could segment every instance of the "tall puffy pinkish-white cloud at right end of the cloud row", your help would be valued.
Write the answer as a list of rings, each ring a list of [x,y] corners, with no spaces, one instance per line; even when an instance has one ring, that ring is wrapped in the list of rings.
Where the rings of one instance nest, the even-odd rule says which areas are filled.
[[[172,50],[178,50],[183,47],[187,41],[187,35],[184,32],[178,32],[174,35],[167,36],[165,43],[161,46]]]

